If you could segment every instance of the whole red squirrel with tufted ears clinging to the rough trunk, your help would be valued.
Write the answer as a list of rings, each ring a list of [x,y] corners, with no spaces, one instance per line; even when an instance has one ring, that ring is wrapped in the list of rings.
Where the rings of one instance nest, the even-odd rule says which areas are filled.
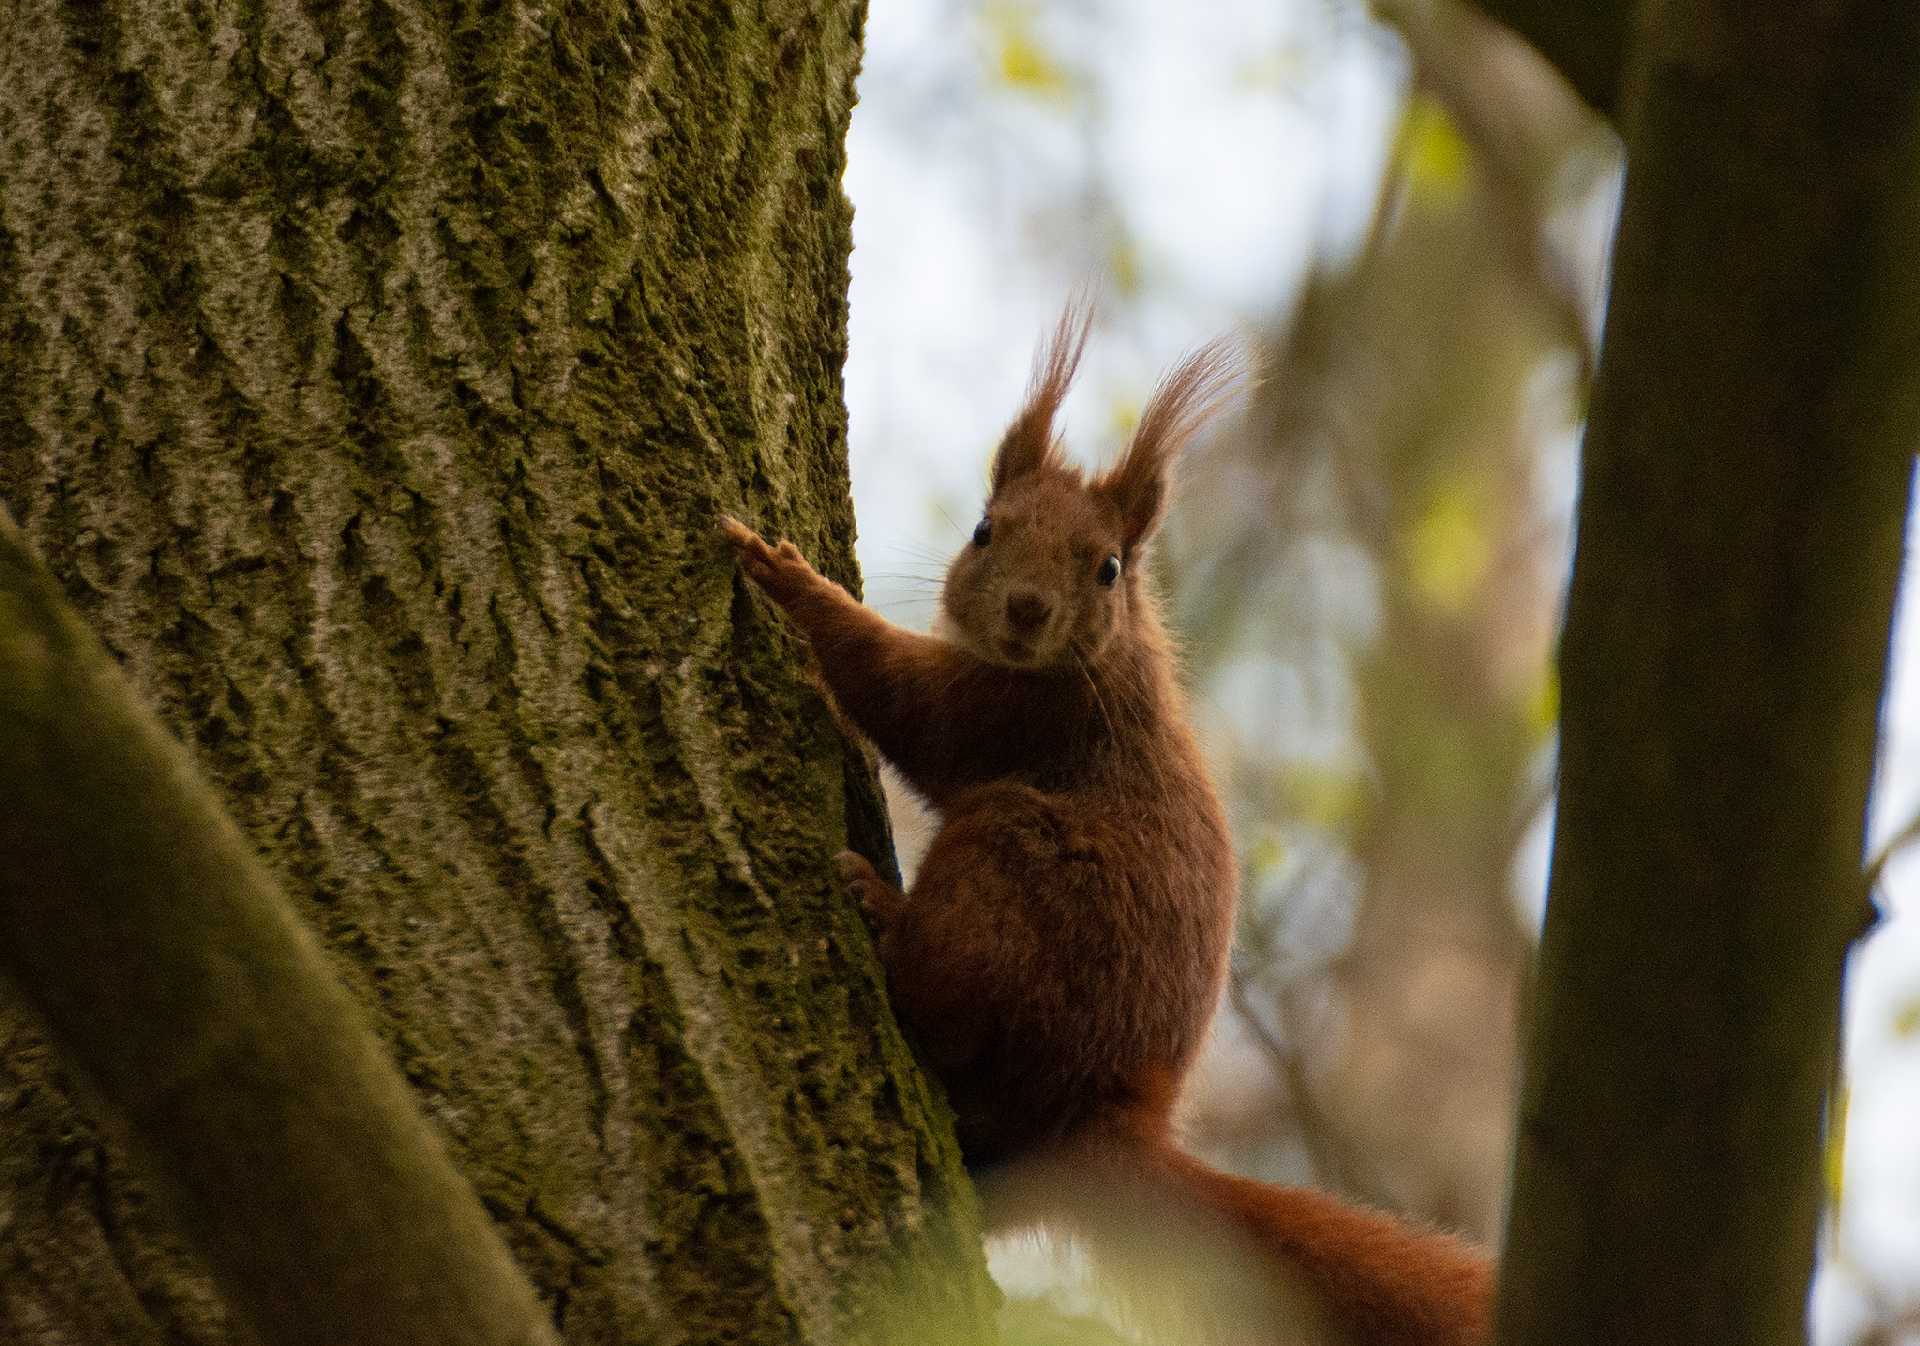
[[[1494,1277],[1469,1244],[1175,1146],[1173,1104],[1227,975],[1238,864],[1146,549],[1171,461],[1236,361],[1215,342],[1173,369],[1121,459],[1087,480],[1054,434],[1087,330],[1069,305],[1041,346],[985,515],[947,572],[939,634],[889,624],[793,543],[722,518],[845,716],[941,818],[912,891],[851,851],[841,877],[947,1087],[989,1231],[1050,1225],[1096,1256],[1142,1227],[1202,1235],[1260,1256],[1288,1286],[1284,1311],[1304,1298],[1334,1340],[1484,1342]]]

